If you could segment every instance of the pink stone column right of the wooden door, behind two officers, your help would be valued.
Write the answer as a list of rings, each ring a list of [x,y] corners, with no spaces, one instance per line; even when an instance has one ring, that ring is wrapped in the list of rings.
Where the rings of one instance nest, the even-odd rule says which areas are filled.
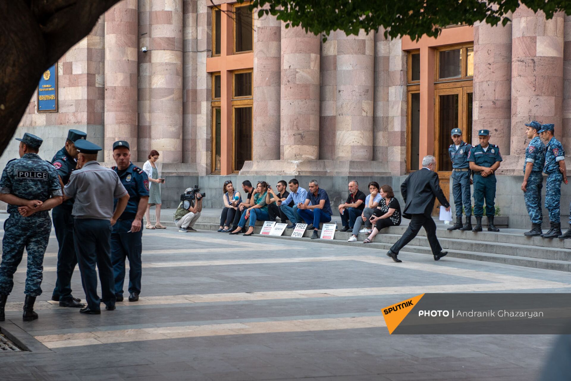
[[[474,25],[474,93],[472,142],[477,130],[489,130],[500,152],[510,152],[512,124],[512,24]],[[470,126],[468,126],[470,128]]]

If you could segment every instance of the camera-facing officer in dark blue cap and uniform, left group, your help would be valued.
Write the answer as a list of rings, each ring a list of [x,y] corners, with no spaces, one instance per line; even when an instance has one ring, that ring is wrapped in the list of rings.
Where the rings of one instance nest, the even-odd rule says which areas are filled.
[[[125,279],[125,258],[129,259],[129,302],[139,300],[141,292],[141,252],[143,231],[141,221],[147,210],[148,178],[139,167],[131,163],[129,143],[113,143],[113,158],[116,167],[111,167],[118,175],[129,194],[129,202],[111,232],[111,260],[115,276],[115,297],[123,301],[123,281]],[[117,200],[115,200],[115,203]]]

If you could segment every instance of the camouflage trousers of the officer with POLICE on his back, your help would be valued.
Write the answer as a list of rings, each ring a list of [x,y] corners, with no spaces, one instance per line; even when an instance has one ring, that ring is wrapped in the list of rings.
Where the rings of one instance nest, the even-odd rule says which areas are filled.
[[[30,296],[42,294],[43,255],[50,239],[51,219],[47,211],[22,217],[10,214],[4,222],[2,262],[0,263],[0,294],[9,295],[14,287],[14,272],[27,252],[26,288]]]

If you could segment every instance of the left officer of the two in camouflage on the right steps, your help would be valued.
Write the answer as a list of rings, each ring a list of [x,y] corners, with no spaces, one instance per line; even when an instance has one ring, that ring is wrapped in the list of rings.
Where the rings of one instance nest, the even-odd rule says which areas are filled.
[[[521,190],[524,191],[525,207],[528,208],[529,218],[532,220],[532,230],[526,231],[528,237],[541,235],[541,188],[543,187],[543,166],[545,164],[545,145],[541,142],[537,131],[541,130],[541,123],[531,121],[525,123],[525,133],[531,139],[525,149],[524,182]]]

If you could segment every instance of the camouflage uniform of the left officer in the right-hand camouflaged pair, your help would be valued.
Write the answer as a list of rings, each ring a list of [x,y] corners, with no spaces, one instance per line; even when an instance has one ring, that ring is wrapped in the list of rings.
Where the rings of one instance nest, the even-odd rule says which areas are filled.
[[[528,178],[527,191],[524,192],[525,207],[528,209],[532,223],[541,224],[543,222],[541,189],[543,188],[542,171],[545,165],[545,145],[539,137],[534,137],[525,149],[524,174],[527,163],[533,163],[533,167]]]

